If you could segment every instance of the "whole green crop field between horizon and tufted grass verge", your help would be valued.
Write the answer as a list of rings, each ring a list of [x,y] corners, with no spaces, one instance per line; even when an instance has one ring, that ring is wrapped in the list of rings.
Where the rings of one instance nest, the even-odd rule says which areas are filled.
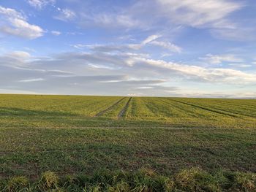
[[[256,100],[0,95],[0,179],[256,172]]]

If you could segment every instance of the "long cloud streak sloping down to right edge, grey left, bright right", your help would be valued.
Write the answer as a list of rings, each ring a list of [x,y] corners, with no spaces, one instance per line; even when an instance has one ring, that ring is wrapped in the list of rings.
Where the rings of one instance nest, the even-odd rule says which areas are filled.
[[[138,77],[178,77],[195,82],[224,82],[228,84],[250,84],[256,82],[256,74],[235,69],[212,69],[202,66],[191,66],[182,63],[167,62],[146,58],[140,54],[129,53],[72,53],[61,56],[61,60],[80,64],[112,66],[115,72],[138,75]],[[118,68],[117,68],[118,67]]]

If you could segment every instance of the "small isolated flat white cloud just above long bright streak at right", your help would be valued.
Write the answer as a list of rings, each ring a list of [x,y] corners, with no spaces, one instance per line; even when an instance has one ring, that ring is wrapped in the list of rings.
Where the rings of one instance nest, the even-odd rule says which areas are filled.
[[[209,64],[222,64],[222,62],[235,62],[240,63],[244,60],[242,58],[238,58],[236,55],[226,54],[226,55],[212,55],[207,54],[206,57],[200,58],[203,61],[208,62]]]

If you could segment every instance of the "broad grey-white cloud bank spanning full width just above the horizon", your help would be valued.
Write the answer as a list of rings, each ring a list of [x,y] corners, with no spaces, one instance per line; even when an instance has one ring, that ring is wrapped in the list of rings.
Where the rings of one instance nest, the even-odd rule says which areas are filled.
[[[34,58],[29,53],[20,51],[0,57],[1,88],[15,87],[19,90],[41,93],[83,94],[84,90],[89,90],[86,94],[141,93],[151,96],[182,96],[183,93],[181,94],[173,85],[178,84],[184,88],[189,81],[189,85],[200,82],[200,85],[225,85],[239,89],[241,85],[252,87],[256,82],[256,74],[253,72],[191,66],[125,51],[61,53],[53,55],[50,59]],[[20,60],[14,59],[18,57]],[[222,86],[219,90],[225,93]],[[186,93],[189,94],[189,91],[185,91],[184,95]],[[199,92],[191,93],[200,95]],[[214,93],[205,96],[209,95]],[[228,94],[230,95],[232,94]]]

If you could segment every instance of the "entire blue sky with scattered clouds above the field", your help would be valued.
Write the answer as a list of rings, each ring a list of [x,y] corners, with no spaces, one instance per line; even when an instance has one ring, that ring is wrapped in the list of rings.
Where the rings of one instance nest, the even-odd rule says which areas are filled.
[[[253,0],[1,0],[0,93],[256,98]]]

